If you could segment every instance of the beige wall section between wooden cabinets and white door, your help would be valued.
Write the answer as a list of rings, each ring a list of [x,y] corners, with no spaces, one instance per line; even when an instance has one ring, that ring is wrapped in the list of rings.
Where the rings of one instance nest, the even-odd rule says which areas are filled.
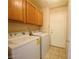
[[[49,8],[43,8],[43,26],[41,27],[42,32],[49,33]]]

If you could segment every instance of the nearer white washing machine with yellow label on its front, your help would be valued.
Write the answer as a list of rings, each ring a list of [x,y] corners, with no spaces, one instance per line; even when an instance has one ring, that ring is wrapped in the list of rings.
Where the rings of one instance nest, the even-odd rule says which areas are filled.
[[[8,44],[8,59],[40,59],[40,37],[11,33]]]

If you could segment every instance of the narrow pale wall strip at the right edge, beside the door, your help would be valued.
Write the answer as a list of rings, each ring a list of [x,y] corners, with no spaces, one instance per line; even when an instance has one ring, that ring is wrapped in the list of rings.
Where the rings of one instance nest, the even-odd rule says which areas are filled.
[[[71,0],[68,3],[68,42],[67,42],[67,51],[68,59],[71,59]]]

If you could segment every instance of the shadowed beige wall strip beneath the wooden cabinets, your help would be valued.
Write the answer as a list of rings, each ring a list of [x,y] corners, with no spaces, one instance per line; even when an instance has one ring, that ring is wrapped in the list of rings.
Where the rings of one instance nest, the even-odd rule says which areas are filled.
[[[35,31],[39,29],[40,27],[35,25],[28,25],[20,22],[13,22],[13,21],[8,22],[8,32],[19,32],[19,31],[29,31],[29,30]]]

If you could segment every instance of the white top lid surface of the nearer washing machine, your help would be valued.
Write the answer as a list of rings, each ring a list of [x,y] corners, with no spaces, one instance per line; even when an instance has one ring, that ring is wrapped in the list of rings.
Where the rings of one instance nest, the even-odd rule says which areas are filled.
[[[14,49],[14,48],[20,47],[24,44],[27,44],[27,43],[29,43],[33,40],[36,40],[36,39],[40,39],[40,37],[37,37],[37,36],[21,36],[21,37],[18,37],[18,38],[13,38],[13,39],[9,40],[9,48]]]

